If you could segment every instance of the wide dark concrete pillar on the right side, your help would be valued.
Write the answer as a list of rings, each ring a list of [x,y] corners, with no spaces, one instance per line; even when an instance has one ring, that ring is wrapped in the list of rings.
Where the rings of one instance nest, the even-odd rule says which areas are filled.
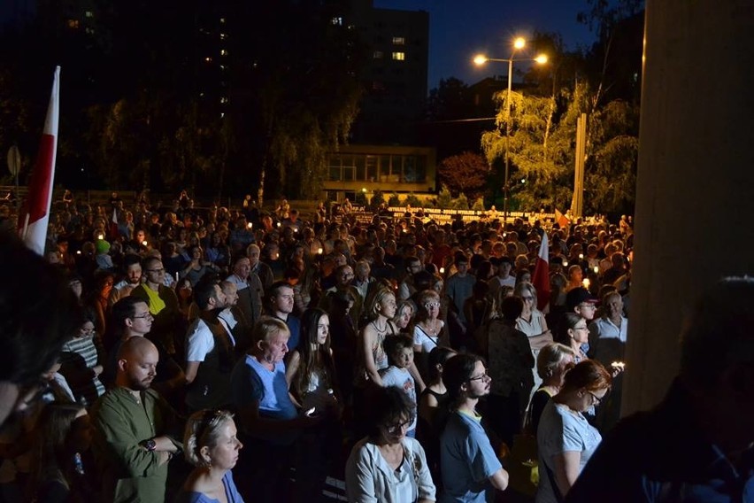
[[[754,0],[647,0],[623,414],[677,373],[706,285],[754,273]]]

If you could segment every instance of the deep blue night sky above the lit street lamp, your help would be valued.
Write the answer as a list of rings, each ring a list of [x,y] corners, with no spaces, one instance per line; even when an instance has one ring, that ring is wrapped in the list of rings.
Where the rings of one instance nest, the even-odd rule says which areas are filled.
[[[576,21],[585,0],[374,0],[385,9],[429,12],[429,81],[457,77],[473,84],[491,74],[507,74],[504,64],[477,68],[474,54],[509,58],[510,41],[535,30],[558,32],[567,49],[588,46],[595,35]]]

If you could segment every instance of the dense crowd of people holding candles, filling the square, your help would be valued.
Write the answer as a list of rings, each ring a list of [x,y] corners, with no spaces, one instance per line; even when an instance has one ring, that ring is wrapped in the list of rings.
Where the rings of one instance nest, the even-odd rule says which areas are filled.
[[[41,399],[3,426],[2,501],[317,501],[342,470],[350,501],[485,501],[522,429],[536,500],[563,501],[620,417],[625,220],[302,221],[188,197],[53,217],[35,267],[71,306],[29,370]]]

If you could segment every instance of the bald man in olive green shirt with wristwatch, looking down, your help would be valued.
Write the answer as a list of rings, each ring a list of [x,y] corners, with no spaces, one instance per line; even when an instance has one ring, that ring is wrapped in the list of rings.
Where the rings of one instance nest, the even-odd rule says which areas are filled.
[[[165,501],[168,461],[181,450],[168,435],[177,422],[173,409],[150,388],[158,350],[144,337],[131,337],[118,352],[115,386],[92,409],[93,450],[102,468],[107,501]]]

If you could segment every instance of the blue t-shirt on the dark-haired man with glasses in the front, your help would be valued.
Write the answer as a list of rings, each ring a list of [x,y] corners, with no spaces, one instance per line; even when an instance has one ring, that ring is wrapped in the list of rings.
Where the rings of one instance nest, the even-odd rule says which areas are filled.
[[[440,438],[440,468],[445,488],[441,503],[485,503],[492,489],[489,477],[503,468],[481,421],[466,414],[450,414]]]

